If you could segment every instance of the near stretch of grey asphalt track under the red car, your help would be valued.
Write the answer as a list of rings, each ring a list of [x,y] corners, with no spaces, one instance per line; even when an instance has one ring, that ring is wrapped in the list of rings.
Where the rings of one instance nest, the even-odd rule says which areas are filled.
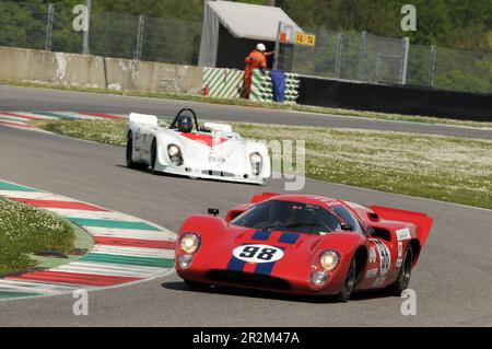
[[[47,105],[49,106],[49,105]],[[52,106],[50,107],[54,108]],[[22,108],[25,109],[25,108]],[[0,127],[0,178],[94,202],[178,230],[184,218],[221,212],[266,187],[154,176],[124,166],[124,150]],[[314,302],[265,292],[189,290],[176,275],[90,293],[89,315],[69,295],[0,302],[0,326],[491,326],[492,211],[307,181],[305,193],[424,211],[435,219],[410,283],[417,315],[402,299],[356,295]]]

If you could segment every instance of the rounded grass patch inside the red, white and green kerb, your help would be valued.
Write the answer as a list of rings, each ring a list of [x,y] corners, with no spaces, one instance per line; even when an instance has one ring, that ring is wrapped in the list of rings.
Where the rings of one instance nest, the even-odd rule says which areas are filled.
[[[0,198],[0,274],[35,266],[39,251],[69,253],[75,235],[70,223],[43,210]]]

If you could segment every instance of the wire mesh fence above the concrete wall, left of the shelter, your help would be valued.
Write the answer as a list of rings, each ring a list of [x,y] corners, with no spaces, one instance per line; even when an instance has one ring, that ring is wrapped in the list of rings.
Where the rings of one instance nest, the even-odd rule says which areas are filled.
[[[72,8],[0,1],[0,45],[83,53]],[[89,53],[105,57],[197,65],[201,23],[119,13],[90,15]]]

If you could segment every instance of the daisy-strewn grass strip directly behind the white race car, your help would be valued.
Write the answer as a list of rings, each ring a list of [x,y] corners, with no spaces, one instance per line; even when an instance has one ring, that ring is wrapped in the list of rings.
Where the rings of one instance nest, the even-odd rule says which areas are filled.
[[[115,146],[125,120],[39,121],[46,130]],[[232,124],[246,138],[306,140],[306,176],[492,209],[492,141],[389,131]]]

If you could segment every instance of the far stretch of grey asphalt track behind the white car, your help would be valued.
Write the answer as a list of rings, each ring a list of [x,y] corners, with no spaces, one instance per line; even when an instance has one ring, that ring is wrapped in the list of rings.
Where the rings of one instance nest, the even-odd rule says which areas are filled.
[[[492,129],[0,85],[1,110],[116,114],[138,112],[171,116],[184,106],[192,107],[199,116],[213,120],[325,126],[492,139]]]

